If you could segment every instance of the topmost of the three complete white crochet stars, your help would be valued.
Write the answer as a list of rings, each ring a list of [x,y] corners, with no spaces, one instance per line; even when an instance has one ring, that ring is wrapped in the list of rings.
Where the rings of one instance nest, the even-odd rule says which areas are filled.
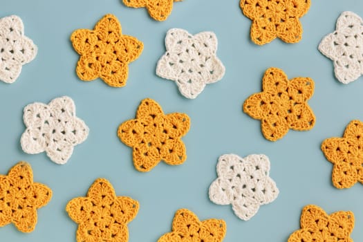
[[[189,32],[172,28],[165,37],[167,52],[156,67],[156,75],[173,80],[180,93],[196,98],[206,84],[218,82],[225,74],[225,67],[216,57],[217,37],[214,32]]]

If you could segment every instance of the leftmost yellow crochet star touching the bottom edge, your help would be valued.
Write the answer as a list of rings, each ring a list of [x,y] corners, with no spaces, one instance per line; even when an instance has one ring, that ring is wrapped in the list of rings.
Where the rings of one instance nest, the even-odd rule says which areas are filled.
[[[98,178],[86,197],[73,198],[66,206],[78,224],[77,242],[129,241],[127,223],[138,214],[139,203],[127,196],[116,196],[111,183]]]

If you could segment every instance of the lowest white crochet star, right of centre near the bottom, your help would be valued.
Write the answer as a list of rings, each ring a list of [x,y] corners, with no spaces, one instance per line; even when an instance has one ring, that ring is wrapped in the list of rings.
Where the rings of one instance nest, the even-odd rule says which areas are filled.
[[[265,155],[223,155],[217,164],[218,178],[210,185],[210,200],[219,205],[232,204],[236,216],[247,221],[257,214],[260,205],[271,203],[279,195],[269,171],[270,160]]]

